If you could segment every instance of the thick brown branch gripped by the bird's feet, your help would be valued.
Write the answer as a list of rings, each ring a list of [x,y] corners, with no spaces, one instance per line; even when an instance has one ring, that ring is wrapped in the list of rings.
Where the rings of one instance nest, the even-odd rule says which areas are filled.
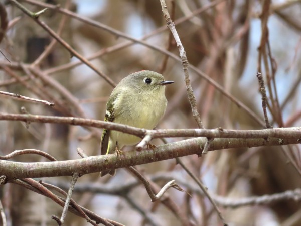
[[[274,129],[268,129],[274,130]],[[300,136],[301,131],[295,130],[296,136]],[[300,143],[296,138],[269,138],[269,139],[222,139],[216,138],[210,144],[210,149],[220,150],[227,148],[258,147],[273,145],[288,145]],[[161,145],[154,150],[137,152],[135,150],[124,152],[118,157],[116,154],[90,156],[84,159],[58,161],[58,162],[39,162],[39,163],[19,163],[0,160],[0,172],[13,178],[36,178],[71,176],[74,172],[81,175],[103,171],[104,169],[117,169],[134,165],[157,162],[177,157],[198,154],[200,147],[204,147],[206,138],[194,138]]]

